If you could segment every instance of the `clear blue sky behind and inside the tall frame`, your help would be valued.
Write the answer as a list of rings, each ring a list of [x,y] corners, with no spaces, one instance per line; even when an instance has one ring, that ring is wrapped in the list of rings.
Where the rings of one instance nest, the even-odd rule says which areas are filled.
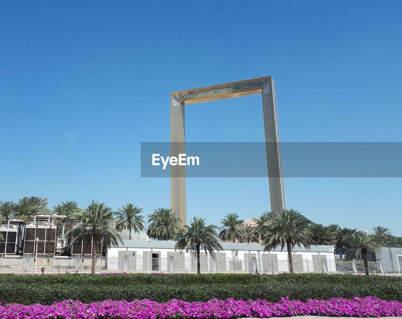
[[[402,141],[402,3],[0,3],[0,200],[170,206],[140,178],[169,141],[169,93],[261,76],[281,141]],[[187,141],[263,141],[260,96],[186,109]],[[297,154],[295,155],[297,156]],[[400,224],[400,178],[286,178],[287,208],[359,229]],[[189,219],[269,210],[266,178],[187,180]],[[395,221],[399,221],[395,223]]]

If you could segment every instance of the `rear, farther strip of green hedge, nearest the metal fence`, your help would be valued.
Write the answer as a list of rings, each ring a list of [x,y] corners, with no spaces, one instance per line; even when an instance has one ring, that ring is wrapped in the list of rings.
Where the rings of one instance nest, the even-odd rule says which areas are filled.
[[[401,284],[402,280],[396,276],[356,276],[353,274],[61,274],[61,275],[0,275],[1,282],[26,284],[74,284],[74,285],[115,285],[127,286],[135,284],[160,284],[171,286],[187,286],[188,284],[296,284],[322,283],[322,284]]]

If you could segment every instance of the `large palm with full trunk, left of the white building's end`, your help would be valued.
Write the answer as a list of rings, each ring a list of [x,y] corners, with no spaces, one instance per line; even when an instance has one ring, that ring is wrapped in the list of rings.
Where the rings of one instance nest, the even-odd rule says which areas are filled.
[[[113,218],[114,212],[105,203],[99,203],[92,200],[85,211],[76,213],[76,218],[82,221],[81,224],[70,229],[66,236],[72,235],[70,247],[76,241],[82,241],[84,238],[92,237],[92,274],[96,271],[96,254],[98,242],[104,243],[108,248],[111,245],[115,247],[122,243],[120,233],[115,230]]]

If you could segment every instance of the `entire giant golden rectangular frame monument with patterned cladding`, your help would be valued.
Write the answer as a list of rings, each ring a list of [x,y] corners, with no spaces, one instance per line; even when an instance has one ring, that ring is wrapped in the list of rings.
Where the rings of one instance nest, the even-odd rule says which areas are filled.
[[[170,93],[170,155],[178,157],[178,154],[186,153],[186,105],[251,94],[261,94],[263,97],[271,211],[279,212],[285,209],[285,194],[283,191],[275,83],[271,76]],[[180,216],[181,227],[183,228],[187,224],[186,166],[170,166],[170,196],[172,211]]]

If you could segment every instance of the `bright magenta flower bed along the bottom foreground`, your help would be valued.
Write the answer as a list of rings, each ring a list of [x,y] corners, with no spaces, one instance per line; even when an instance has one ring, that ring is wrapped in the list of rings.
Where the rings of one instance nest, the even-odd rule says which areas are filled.
[[[375,297],[352,300],[332,298],[330,300],[308,300],[306,302],[282,298],[279,303],[264,300],[236,301],[234,299],[207,302],[185,302],[171,300],[158,303],[148,299],[135,301],[105,300],[84,304],[80,301],[62,301],[53,305],[0,305],[0,317],[5,319],[47,318],[136,318],[136,319],[230,319],[239,317],[289,317],[295,315],[384,317],[402,316],[402,303],[384,301]]]

